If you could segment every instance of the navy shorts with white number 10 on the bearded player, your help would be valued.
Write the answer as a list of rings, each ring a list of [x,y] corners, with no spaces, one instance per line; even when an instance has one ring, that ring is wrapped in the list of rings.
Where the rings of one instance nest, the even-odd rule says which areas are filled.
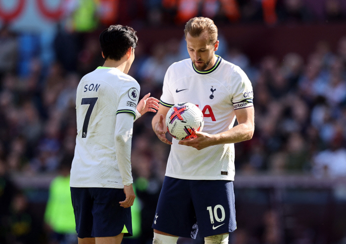
[[[233,182],[165,177],[153,229],[195,239],[236,229]]]

